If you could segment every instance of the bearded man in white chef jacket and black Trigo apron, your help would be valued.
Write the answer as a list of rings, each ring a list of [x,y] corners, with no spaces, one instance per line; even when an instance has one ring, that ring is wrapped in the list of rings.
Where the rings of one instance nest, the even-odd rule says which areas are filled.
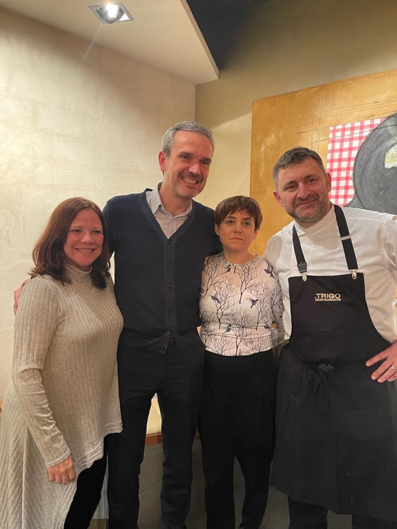
[[[331,204],[315,151],[276,162],[274,196],[293,222],[268,242],[288,345],[278,378],[272,485],[290,529],[397,528],[397,217]]]

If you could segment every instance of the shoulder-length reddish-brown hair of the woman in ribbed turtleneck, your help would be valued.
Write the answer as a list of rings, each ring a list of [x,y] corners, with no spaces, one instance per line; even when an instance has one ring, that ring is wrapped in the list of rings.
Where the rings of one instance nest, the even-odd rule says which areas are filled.
[[[101,255],[92,263],[91,280],[97,288],[106,287],[106,277],[110,276],[110,256],[105,222],[101,209],[94,202],[83,197],[68,198],[58,204],[51,213],[47,226],[33,248],[34,267],[30,270],[31,278],[48,274],[63,284],[70,282],[65,268],[64,245],[70,224],[82,209],[92,209],[101,220],[103,248]]]

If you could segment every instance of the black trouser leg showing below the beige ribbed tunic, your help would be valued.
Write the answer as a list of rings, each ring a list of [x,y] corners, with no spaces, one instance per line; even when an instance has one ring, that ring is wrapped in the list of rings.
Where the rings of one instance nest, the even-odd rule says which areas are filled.
[[[106,440],[104,455],[94,461],[91,467],[80,472],[77,489],[65,519],[64,529],[87,529],[101,499],[103,478],[106,472]]]

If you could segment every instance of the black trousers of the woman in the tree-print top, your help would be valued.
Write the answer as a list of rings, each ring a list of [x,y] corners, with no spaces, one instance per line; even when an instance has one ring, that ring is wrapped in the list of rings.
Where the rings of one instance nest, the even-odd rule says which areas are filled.
[[[245,480],[241,525],[257,529],[266,509],[274,449],[276,362],[205,352],[200,435],[207,529],[234,529],[233,463]]]

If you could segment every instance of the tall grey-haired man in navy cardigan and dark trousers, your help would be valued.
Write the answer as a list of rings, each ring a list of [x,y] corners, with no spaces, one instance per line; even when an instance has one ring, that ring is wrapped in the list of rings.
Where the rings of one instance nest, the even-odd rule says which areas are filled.
[[[212,209],[194,202],[213,153],[212,132],[177,123],[159,153],[163,182],[110,199],[115,294],[124,317],[118,350],[123,432],[109,436],[110,529],[134,529],[146,424],[155,393],[164,466],[161,529],[183,529],[190,506],[192,443],[204,369],[198,295],[205,256],[221,251]]]

